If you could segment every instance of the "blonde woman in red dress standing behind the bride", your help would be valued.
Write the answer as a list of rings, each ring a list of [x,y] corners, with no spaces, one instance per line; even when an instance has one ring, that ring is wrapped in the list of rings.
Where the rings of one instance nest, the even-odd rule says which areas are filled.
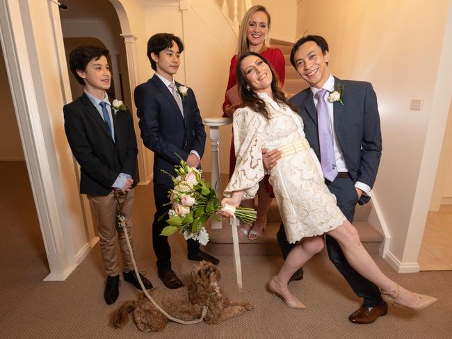
[[[271,26],[271,17],[264,6],[252,6],[241,22],[239,33],[239,47],[237,54],[232,57],[231,65],[229,67],[229,79],[227,81],[226,92],[237,84],[236,65],[243,53],[252,51],[264,56],[266,60],[272,65],[273,69],[280,79],[281,87],[284,85],[284,78],[286,76],[284,56],[280,49],[267,47],[267,35]],[[232,104],[225,94],[225,101],[223,102],[223,117],[232,117],[239,104]],[[236,165],[236,155],[234,150],[234,135],[231,142],[231,154],[229,158],[229,174],[234,171]],[[250,240],[256,240],[265,230],[267,224],[267,211],[270,208],[273,194],[271,193],[271,186],[268,183],[268,176],[259,183],[259,191],[257,197],[259,205],[257,207],[257,220],[254,225],[245,224],[239,230],[239,236],[247,236]],[[245,207],[253,207],[254,199],[242,202]]]

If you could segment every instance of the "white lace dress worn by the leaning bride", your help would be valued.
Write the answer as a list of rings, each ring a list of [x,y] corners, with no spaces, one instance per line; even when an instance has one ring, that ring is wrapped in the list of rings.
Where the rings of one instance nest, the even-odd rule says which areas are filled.
[[[237,160],[225,197],[238,190],[245,191],[242,199],[255,197],[265,174],[261,148],[277,149],[305,138],[300,115],[278,106],[267,94],[259,97],[266,101],[270,120],[248,107],[234,113]],[[289,242],[328,232],[346,219],[325,185],[321,165],[311,148],[284,156],[269,174]]]

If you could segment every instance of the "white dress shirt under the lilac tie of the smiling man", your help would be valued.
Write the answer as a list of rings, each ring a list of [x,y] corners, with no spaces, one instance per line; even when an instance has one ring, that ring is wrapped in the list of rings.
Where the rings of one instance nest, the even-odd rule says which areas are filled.
[[[334,130],[334,114],[333,114],[333,103],[328,101],[328,95],[334,91],[334,76],[330,74],[328,80],[323,84],[323,87],[327,92],[325,92],[325,101],[328,106],[328,113],[330,113],[330,122],[331,122],[331,130],[333,137],[333,149],[334,149],[334,159],[336,161],[337,172],[348,172],[348,168],[346,165],[346,161],[344,159],[344,154],[342,154],[341,147],[339,146],[339,142],[337,141],[336,131]],[[320,88],[311,87],[312,94],[314,95],[314,105],[317,108],[317,99],[316,93],[321,90]],[[357,181],[355,183],[355,188],[359,188],[363,191],[365,195],[371,196],[371,188],[369,185]]]

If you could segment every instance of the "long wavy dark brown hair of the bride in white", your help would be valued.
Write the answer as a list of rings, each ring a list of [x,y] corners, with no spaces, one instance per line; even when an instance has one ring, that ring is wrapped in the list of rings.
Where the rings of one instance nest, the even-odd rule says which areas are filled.
[[[297,112],[297,109],[293,104],[291,104],[287,99],[284,92],[281,90],[280,87],[280,80],[277,78],[277,75],[275,71],[273,70],[273,67],[271,67],[270,63],[264,58],[263,56],[259,55],[255,52],[246,52],[244,53],[240,58],[239,62],[237,63],[236,67],[236,77],[237,77],[237,85],[239,86],[239,96],[242,100],[241,107],[248,106],[252,110],[255,110],[255,112],[259,112],[264,117],[266,117],[267,120],[271,118],[270,112],[268,112],[267,105],[264,100],[262,100],[257,93],[250,88],[250,85],[248,84],[248,81],[246,80],[245,74],[241,71],[241,64],[244,58],[247,56],[257,56],[257,58],[261,59],[266,63],[266,65],[270,68],[271,75],[272,75],[272,81],[271,81],[271,92],[273,93],[273,100],[277,102],[277,104],[283,104],[286,106],[289,106],[294,112]]]

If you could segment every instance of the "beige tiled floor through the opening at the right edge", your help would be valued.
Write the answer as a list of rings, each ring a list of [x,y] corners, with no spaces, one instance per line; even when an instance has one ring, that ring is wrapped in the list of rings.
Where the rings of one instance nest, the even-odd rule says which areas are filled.
[[[452,270],[452,205],[428,213],[418,262],[421,271]]]

